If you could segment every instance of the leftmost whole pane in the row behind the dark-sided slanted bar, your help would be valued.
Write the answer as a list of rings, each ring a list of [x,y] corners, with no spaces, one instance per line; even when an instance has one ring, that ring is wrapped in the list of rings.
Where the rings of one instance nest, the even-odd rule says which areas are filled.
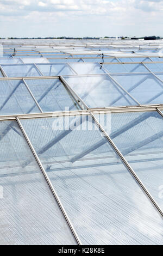
[[[34,65],[5,65],[2,67],[8,77],[41,76]]]

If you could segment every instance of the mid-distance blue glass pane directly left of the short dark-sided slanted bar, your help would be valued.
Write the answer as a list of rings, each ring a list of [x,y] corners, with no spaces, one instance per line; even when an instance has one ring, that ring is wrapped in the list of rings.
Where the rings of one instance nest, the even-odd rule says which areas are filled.
[[[79,109],[59,79],[26,80],[26,83],[44,112]]]

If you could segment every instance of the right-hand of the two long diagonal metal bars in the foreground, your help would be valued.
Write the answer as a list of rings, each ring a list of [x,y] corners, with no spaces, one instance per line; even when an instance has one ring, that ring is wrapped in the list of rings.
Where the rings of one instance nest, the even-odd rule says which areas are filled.
[[[90,112],[91,117],[93,118],[93,120],[96,122],[96,124],[98,125],[99,129],[104,133],[105,137],[108,139],[109,143],[111,144],[112,148],[116,151],[116,153],[118,154],[118,156],[120,156],[122,162],[124,163],[124,165],[127,167],[127,169],[130,171],[130,173],[134,176],[134,178],[136,179],[136,181],[139,183],[139,185],[141,186],[142,190],[146,193],[147,197],[151,200],[151,202],[153,203],[153,205],[155,206],[156,210],[158,210],[158,212],[161,214],[161,216],[163,217],[163,212],[161,211],[159,205],[155,202],[154,198],[152,197],[151,193],[148,192],[147,188],[145,187],[145,185],[143,185],[142,181],[139,179],[139,177],[136,175],[136,173],[134,172],[134,169],[130,166],[130,164],[128,163],[128,161],[125,159],[125,157],[122,155],[121,151],[116,147],[115,143],[112,141],[112,139],[109,137],[109,135],[105,132],[105,130],[103,129],[103,127],[101,126],[101,124],[99,124],[98,120],[96,119],[96,117]]]

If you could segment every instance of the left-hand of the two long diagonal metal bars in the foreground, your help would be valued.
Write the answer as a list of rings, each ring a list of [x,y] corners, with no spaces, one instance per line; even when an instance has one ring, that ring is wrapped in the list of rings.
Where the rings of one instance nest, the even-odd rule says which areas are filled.
[[[53,185],[51,183],[51,180],[48,178],[48,175],[47,175],[47,173],[46,173],[46,171],[45,171],[45,169],[44,169],[44,167],[43,167],[39,157],[37,156],[37,153],[36,153],[32,143],[30,142],[30,140],[29,140],[29,138],[27,136],[26,131],[24,130],[24,128],[23,128],[23,126],[22,126],[22,124],[21,124],[21,122],[20,122],[20,120],[18,118],[16,118],[16,121],[17,121],[18,125],[20,126],[20,129],[21,129],[24,137],[26,138],[26,141],[27,141],[30,149],[32,150],[32,153],[33,153],[37,163],[39,164],[40,169],[41,169],[43,175],[45,176],[45,179],[46,179],[46,181],[47,181],[47,183],[48,183],[48,185],[49,185],[49,187],[50,187],[50,189],[51,189],[51,191],[53,193],[54,198],[57,200],[59,208],[61,209],[62,214],[64,215],[64,217],[65,217],[65,219],[66,219],[66,221],[67,221],[67,223],[68,223],[68,225],[69,225],[69,227],[70,227],[70,229],[72,231],[72,234],[73,234],[74,238],[76,239],[78,245],[82,245],[82,242],[80,241],[80,239],[78,237],[78,234],[76,233],[76,230],[74,229],[74,227],[73,227],[73,225],[72,225],[72,223],[70,221],[70,218],[68,217],[67,212],[65,211],[64,206],[62,205],[62,203],[61,203],[61,201],[60,201],[60,199],[58,197],[57,192],[54,190],[54,187],[53,187]]]

